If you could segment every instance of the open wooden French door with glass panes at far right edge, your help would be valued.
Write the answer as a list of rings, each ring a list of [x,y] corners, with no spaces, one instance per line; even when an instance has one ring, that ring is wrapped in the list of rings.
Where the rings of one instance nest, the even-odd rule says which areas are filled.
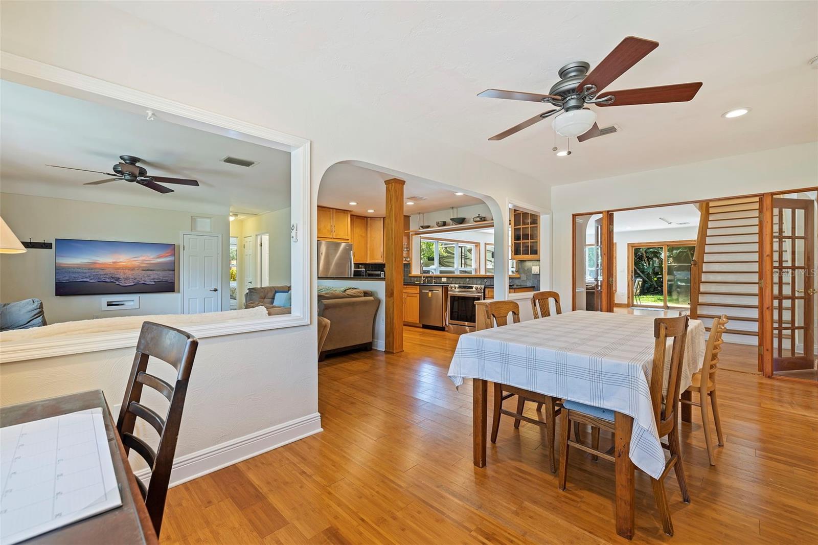
[[[815,206],[772,199],[772,370],[815,368]]]

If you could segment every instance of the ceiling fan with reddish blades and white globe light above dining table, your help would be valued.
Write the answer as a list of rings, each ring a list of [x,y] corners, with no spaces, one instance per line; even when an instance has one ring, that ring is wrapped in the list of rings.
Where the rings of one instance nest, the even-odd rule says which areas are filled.
[[[600,92],[624,74],[631,66],[641,61],[652,52],[659,43],[645,38],[628,36],[603,59],[594,70],[585,61],[575,61],[560,68],[560,81],[551,86],[550,94],[535,92],[503,91],[486,89],[478,97],[508,98],[514,101],[545,102],[556,106],[537,114],[523,123],[517,124],[502,133],[495,134],[489,140],[502,140],[524,128],[556,115],[552,125],[554,130],[564,137],[577,137],[579,142],[600,136],[596,124],[596,112],[586,105],[595,106],[634,106],[637,104],[659,104],[663,102],[690,101],[699,92],[702,82],[659,85],[622,91]]]

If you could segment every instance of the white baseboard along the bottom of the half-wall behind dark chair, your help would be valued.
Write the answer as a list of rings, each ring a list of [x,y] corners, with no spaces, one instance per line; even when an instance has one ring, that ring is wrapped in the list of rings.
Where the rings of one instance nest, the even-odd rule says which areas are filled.
[[[205,448],[196,453],[186,454],[173,460],[170,484],[173,487],[202,475],[213,473],[222,467],[232,466],[247,458],[266,453],[268,450],[284,446],[309,435],[323,431],[321,414],[313,412],[306,417],[272,426],[266,430],[231,439],[222,444]],[[147,486],[151,482],[151,471],[147,468],[136,471],[137,479]]]

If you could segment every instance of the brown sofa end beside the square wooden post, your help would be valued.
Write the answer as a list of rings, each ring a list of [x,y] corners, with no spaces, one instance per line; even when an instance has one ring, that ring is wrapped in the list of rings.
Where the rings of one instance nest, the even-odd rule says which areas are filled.
[[[369,290],[346,289],[318,294],[318,315],[330,321],[318,361],[327,354],[372,349],[380,299]]]

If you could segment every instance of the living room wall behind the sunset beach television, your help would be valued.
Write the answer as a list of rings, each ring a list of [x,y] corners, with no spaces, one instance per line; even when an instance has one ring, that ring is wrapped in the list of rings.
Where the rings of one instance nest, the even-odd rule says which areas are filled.
[[[48,323],[114,316],[180,313],[179,261],[181,233],[191,231],[191,216],[211,218],[214,233],[222,234],[222,259],[227,263],[227,215],[211,216],[108,205],[81,200],[0,194],[0,215],[11,230],[27,241],[54,242],[56,238],[84,240],[164,242],[176,244],[175,293],[138,294],[139,309],[101,310],[101,295],[54,295],[54,249],[28,250],[25,254],[0,254],[0,301],[10,303],[36,297],[43,300]],[[229,270],[222,266],[222,309],[229,308]]]

